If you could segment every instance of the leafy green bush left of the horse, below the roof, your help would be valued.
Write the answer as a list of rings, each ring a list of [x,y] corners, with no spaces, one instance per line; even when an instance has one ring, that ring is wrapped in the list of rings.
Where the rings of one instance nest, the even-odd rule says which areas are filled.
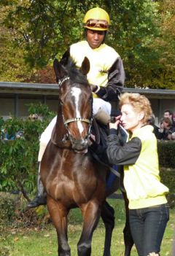
[[[31,104],[29,113],[42,114],[42,120],[21,120],[12,117],[5,121],[3,130],[16,139],[0,141],[0,190],[20,190],[28,199],[28,193],[35,191],[39,136],[52,116],[45,105]],[[20,131],[20,136],[18,136]],[[29,200],[29,199],[28,199]]]

